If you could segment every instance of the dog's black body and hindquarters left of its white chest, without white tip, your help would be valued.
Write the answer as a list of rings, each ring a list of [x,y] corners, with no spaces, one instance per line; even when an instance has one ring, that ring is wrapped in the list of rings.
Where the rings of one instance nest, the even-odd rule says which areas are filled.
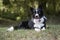
[[[19,25],[15,26],[14,29],[34,29],[32,21],[22,21]]]

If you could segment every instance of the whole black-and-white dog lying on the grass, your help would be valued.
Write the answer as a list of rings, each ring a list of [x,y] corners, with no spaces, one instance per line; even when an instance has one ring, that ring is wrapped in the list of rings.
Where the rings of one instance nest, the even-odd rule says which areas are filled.
[[[8,31],[13,31],[16,29],[35,29],[35,31],[45,30],[46,29],[46,20],[47,18],[43,14],[42,6],[39,6],[37,9],[30,7],[32,12],[32,18],[28,21],[22,21],[17,26],[11,26],[8,28]]]

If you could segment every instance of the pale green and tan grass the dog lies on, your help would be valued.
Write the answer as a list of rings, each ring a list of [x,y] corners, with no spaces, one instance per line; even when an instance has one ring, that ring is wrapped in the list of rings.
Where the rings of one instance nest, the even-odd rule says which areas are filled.
[[[7,27],[0,27],[0,40],[60,40],[60,25],[48,25],[45,31],[15,30],[7,32]]]

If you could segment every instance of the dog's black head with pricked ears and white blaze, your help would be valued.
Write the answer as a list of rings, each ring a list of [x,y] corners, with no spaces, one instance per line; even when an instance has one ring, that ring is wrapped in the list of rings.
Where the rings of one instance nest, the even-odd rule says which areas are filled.
[[[41,18],[43,16],[42,5],[40,5],[37,9],[31,7],[31,12],[33,18]]]

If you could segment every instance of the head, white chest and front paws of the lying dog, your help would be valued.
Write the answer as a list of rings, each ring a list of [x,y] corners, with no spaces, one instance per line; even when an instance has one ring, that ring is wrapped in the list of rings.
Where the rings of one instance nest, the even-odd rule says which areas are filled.
[[[46,29],[46,20],[47,18],[43,14],[42,6],[40,5],[37,9],[31,8],[33,18],[32,22],[34,23],[35,31],[45,30]]]

